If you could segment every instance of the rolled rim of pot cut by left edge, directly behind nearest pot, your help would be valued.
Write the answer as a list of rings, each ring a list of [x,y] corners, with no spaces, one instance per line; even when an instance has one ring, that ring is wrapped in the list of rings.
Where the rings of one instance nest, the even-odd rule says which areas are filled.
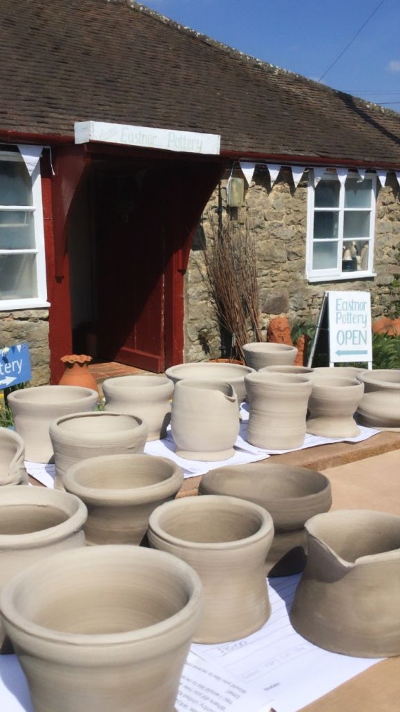
[[[68,519],[55,526],[26,534],[0,534],[0,549],[36,549],[40,545],[48,544],[49,535],[51,535],[52,543],[55,543],[57,540],[63,540],[66,534],[69,533],[72,536],[73,533],[83,528],[88,518],[86,505],[78,497],[68,492],[52,488],[21,487],[20,485],[11,485],[3,489],[0,498],[0,513],[2,506],[8,506],[5,500],[13,499],[14,494],[20,498],[20,501],[14,501],[9,506],[48,506],[67,514]],[[72,514],[68,511],[68,503],[70,509],[74,506],[75,511]]]

